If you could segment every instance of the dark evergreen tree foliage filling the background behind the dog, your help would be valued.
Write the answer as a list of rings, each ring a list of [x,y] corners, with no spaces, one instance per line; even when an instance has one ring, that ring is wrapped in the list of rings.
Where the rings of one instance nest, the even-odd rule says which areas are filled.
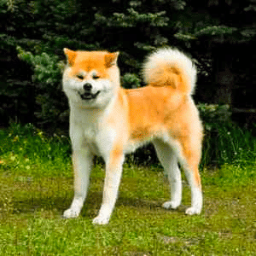
[[[0,0],[0,125],[67,132],[64,47],[119,50],[123,86],[132,88],[143,85],[144,56],[172,45],[198,67],[206,132],[231,119],[251,127],[255,12],[255,0]]]

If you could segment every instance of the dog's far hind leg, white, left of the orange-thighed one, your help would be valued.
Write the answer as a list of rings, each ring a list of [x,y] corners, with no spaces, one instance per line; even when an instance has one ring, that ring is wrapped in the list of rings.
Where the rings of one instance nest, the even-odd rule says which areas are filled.
[[[182,200],[182,179],[177,166],[177,154],[168,143],[160,140],[154,141],[154,148],[170,183],[171,201],[166,201],[163,207],[176,209]]]

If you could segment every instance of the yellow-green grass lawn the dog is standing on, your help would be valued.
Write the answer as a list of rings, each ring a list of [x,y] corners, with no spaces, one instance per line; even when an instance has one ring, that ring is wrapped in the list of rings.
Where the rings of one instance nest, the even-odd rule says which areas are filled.
[[[63,219],[73,197],[67,137],[47,138],[32,126],[14,125],[0,131],[0,139],[0,255],[256,255],[253,158],[202,168],[199,216],[184,214],[186,182],[183,205],[167,211],[161,207],[169,199],[161,167],[125,164],[110,223],[98,226],[91,220],[102,202],[100,163],[81,216]]]

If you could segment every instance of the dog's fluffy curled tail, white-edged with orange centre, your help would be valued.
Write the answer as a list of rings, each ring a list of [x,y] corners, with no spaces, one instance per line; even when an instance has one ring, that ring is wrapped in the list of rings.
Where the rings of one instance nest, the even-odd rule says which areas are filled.
[[[157,49],[143,64],[143,78],[153,86],[172,86],[184,94],[195,89],[196,68],[188,56],[178,49]]]

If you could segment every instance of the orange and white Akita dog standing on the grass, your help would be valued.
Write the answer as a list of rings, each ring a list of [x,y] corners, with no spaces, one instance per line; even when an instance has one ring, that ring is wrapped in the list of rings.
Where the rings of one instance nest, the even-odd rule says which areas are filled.
[[[64,49],[67,67],[63,90],[70,107],[73,148],[74,197],[64,218],[77,218],[89,187],[94,155],[106,163],[102,207],[93,224],[108,224],[117,200],[125,154],[144,143],[154,143],[167,173],[171,200],[163,207],[176,209],[182,200],[183,167],[191,188],[191,207],[202,208],[201,160],[203,128],[192,93],[196,68],[175,48],[155,50],[143,64],[147,86],[123,89],[117,59],[119,52]]]

